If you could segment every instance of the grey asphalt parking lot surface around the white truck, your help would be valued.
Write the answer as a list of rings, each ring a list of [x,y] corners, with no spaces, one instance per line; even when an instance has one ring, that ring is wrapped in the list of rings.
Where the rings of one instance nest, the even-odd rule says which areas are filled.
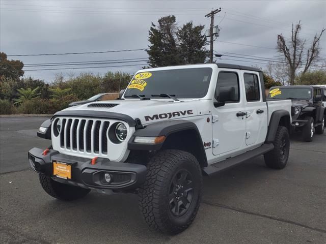
[[[148,229],[137,195],[48,196],[27,160],[50,144],[36,136],[45,119],[0,118],[1,243],[326,243],[326,133],[293,136],[283,170],[258,157],[204,178],[193,225],[169,236]]]

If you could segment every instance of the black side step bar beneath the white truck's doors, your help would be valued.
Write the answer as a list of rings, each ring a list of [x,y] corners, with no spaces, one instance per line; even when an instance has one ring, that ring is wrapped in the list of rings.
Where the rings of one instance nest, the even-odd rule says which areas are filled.
[[[218,173],[223,170],[232,168],[240,163],[243,163],[244,161],[247,161],[249,159],[253,159],[257,156],[263,155],[273,149],[274,149],[274,145],[272,143],[266,143],[266,144],[261,145],[258,148],[247,151],[244,154],[235,156],[233,158],[228,158],[224,161],[210,164],[207,167],[203,168],[203,171],[206,175]]]

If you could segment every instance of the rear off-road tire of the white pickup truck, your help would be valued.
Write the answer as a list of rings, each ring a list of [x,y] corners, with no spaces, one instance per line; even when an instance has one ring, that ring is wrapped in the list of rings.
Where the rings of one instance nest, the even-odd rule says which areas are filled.
[[[290,136],[286,127],[278,127],[273,144],[274,149],[264,154],[265,164],[272,169],[283,169],[290,151]]]

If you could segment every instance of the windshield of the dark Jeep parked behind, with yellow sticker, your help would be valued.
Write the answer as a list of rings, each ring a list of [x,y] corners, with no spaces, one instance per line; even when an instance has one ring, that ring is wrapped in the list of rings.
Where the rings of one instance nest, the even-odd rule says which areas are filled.
[[[269,90],[268,98],[311,99],[311,88],[307,87],[278,87]]]

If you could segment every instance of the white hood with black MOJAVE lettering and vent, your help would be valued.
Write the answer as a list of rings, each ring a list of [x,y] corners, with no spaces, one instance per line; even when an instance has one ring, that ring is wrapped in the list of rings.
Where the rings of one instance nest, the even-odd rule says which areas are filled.
[[[77,107],[69,107],[63,111],[69,110],[92,110],[115,112],[129,115],[133,119],[139,118],[143,125],[168,119],[177,119],[196,116],[199,114],[196,105],[204,103],[205,100],[186,100],[174,102],[171,100],[111,100],[101,102],[90,102]],[[203,112],[201,112],[203,114]]]

